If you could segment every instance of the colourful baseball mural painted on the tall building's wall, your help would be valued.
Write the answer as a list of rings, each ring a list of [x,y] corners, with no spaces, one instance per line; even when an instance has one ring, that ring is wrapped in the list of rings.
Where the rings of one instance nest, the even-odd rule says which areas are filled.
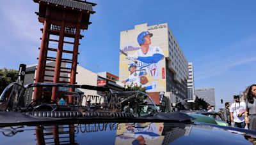
[[[125,86],[142,86],[147,92],[160,92],[166,88],[163,48],[154,45],[154,32],[141,31],[134,36],[136,44],[121,46],[120,81]]]

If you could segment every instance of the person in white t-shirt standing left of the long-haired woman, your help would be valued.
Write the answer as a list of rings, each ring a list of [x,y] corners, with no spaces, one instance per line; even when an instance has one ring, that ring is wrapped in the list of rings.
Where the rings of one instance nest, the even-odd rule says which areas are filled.
[[[245,102],[240,102],[239,95],[234,95],[234,100],[230,106],[230,121],[235,123],[235,127],[244,128]]]

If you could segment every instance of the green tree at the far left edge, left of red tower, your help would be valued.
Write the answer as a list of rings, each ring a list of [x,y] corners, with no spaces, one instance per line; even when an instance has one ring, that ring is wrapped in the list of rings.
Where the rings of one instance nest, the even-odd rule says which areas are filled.
[[[0,69],[0,94],[4,88],[18,78],[18,71],[15,69]]]

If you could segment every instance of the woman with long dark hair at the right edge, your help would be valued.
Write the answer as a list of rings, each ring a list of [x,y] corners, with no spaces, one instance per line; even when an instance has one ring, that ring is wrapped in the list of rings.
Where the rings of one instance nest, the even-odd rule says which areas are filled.
[[[247,93],[244,121],[250,130],[256,130],[256,84],[251,85]]]

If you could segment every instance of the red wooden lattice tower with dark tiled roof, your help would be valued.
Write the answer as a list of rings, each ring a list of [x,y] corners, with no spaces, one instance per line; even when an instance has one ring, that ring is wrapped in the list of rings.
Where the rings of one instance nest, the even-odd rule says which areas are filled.
[[[70,83],[76,84],[76,67],[79,39],[83,36],[81,30],[88,29],[90,15],[95,13],[93,6],[96,4],[82,0],[33,0],[39,3],[38,20],[44,24],[42,31],[42,42],[40,46],[40,54],[38,57],[38,66],[36,68],[35,83],[53,82],[53,83]],[[54,37],[53,37],[54,36]],[[52,39],[58,38],[58,39]],[[66,41],[66,39],[73,41]],[[50,43],[57,43],[56,48],[51,48]],[[65,49],[65,45],[72,45],[72,50]],[[55,52],[56,57],[47,55],[49,52]],[[72,59],[64,59],[64,55],[72,55]],[[47,62],[55,62],[55,66],[47,66]],[[61,66],[61,63],[68,64]],[[45,72],[54,72],[54,75],[45,75]],[[60,76],[61,72],[69,73],[70,77]],[[52,78],[50,80],[45,79]],[[60,81],[60,78],[68,78],[70,81]],[[74,92],[70,88],[70,92]],[[42,88],[35,88],[33,100],[42,97]],[[51,99],[57,99],[58,88],[52,88]],[[73,98],[68,97],[68,103],[73,103]]]

